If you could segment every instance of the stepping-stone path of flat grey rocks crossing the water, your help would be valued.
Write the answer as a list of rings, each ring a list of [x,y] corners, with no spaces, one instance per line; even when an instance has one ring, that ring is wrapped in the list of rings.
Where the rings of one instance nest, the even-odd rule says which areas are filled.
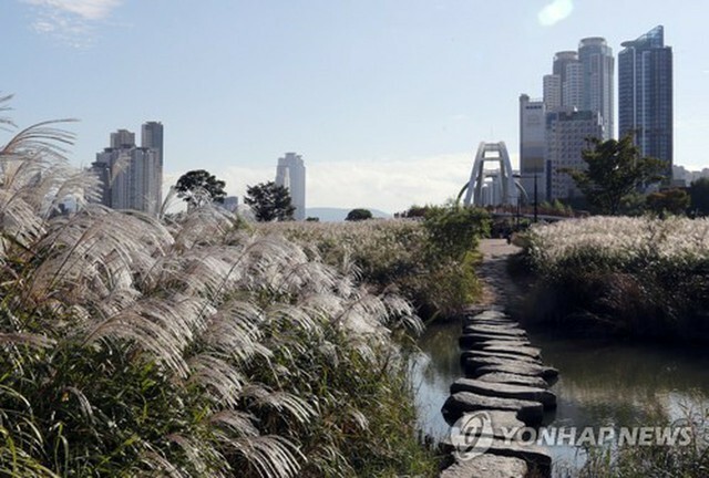
[[[536,427],[545,411],[556,408],[556,395],[548,387],[558,371],[545,365],[542,351],[532,346],[520,324],[497,310],[467,313],[459,344],[465,377],[451,385],[443,416],[449,424],[461,427],[471,416],[485,416],[491,428],[485,449],[473,448],[482,453],[479,456],[465,455],[471,449],[471,439],[473,444],[479,439],[476,434],[481,429],[476,427],[466,430],[472,437],[464,430],[463,435],[444,440],[443,449],[458,453],[452,455],[455,459],[441,477],[551,476],[549,454],[536,444],[520,441],[516,436],[511,438],[510,430]]]

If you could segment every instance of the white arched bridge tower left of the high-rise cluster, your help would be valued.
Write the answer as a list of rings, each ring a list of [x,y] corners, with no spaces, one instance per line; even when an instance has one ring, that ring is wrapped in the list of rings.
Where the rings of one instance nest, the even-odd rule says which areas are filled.
[[[481,142],[473,163],[473,170],[467,181],[465,193],[465,206],[483,206],[483,185],[485,183],[485,163],[494,162],[500,166],[500,174],[494,179],[501,191],[500,205],[516,206],[517,188],[515,185],[510,155],[504,142],[485,143]]]

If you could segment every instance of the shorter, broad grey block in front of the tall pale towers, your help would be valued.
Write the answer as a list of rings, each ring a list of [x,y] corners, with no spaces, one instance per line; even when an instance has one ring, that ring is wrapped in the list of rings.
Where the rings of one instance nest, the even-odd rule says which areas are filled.
[[[582,194],[576,184],[563,169],[586,168],[582,152],[588,148],[586,138],[599,138],[603,133],[600,113],[572,107],[549,112],[545,131],[548,199],[579,197]]]

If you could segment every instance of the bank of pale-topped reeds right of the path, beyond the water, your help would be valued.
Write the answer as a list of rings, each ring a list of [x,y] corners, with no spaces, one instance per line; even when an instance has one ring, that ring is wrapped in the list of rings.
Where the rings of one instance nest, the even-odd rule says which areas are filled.
[[[535,226],[525,260],[547,320],[653,339],[709,339],[709,220],[590,217]]]

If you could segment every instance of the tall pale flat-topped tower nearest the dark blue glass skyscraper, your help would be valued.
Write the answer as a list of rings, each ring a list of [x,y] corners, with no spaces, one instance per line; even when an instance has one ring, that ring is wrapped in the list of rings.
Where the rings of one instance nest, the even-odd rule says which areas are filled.
[[[603,139],[614,136],[614,58],[613,49],[600,37],[586,38],[578,44],[583,86],[579,110],[598,112]]]

